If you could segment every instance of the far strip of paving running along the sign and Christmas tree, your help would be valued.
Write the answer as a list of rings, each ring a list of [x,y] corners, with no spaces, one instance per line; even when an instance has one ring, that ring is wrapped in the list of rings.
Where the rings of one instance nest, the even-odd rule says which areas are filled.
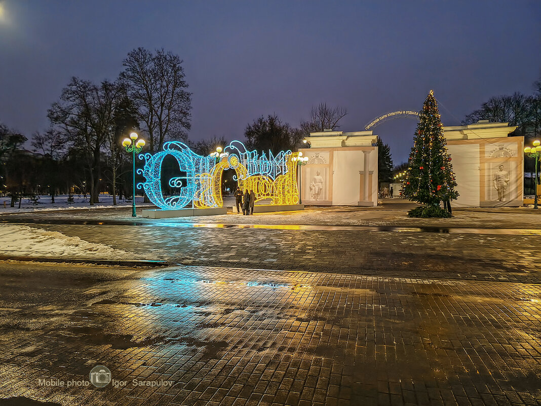
[[[526,207],[456,208],[450,219],[410,219],[407,210],[414,204],[399,199],[384,201],[378,207],[306,207],[304,211],[256,213],[243,216],[230,212],[226,215],[195,216],[167,220],[146,219],[137,210],[137,218],[131,217],[130,208],[78,209],[65,211],[37,211],[31,213],[0,213],[0,222],[24,221],[115,221],[131,224],[213,222],[221,224],[306,224],[306,225],[387,225],[406,227],[499,227],[541,228],[540,212]]]

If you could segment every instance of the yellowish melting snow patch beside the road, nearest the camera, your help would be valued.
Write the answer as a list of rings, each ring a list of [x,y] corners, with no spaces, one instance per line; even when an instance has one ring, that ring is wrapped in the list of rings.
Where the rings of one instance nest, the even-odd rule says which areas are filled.
[[[104,244],[88,243],[79,237],[68,237],[56,231],[45,231],[21,225],[0,226],[0,255],[108,260],[143,259],[133,252],[116,250]]]

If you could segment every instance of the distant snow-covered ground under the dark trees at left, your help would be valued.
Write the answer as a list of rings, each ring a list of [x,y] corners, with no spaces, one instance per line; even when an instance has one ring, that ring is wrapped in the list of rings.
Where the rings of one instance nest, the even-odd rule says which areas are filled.
[[[131,200],[119,200],[116,199],[117,205],[113,206],[113,196],[110,194],[101,194],[100,202],[94,206],[90,206],[90,198],[85,198],[83,195],[74,194],[74,202],[68,203],[68,195],[55,196],[54,204],[51,203],[51,197],[42,195],[37,200],[37,204],[32,202],[28,198],[23,198],[21,208],[19,209],[19,203],[15,204],[15,207],[9,207],[11,204],[11,198],[0,197],[0,213],[27,213],[36,211],[48,211],[48,210],[73,210],[73,209],[94,209],[94,208],[115,208],[115,207],[131,207]],[[135,199],[137,207],[154,207],[151,203],[143,203],[143,197],[138,196]],[[5,207],[4,207],[5,206]]]

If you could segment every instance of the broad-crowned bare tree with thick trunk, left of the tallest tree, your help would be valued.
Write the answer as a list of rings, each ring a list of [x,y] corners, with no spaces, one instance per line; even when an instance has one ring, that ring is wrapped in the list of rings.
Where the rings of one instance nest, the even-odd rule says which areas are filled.
[[[114,132],[114,111],[121,87],[103,81],[100,86],[73,77],[62,90],[60,100],[48,110],[65,143],[80,149],[89,169],[90,205],[98,202],[101,178],[101,149]]]

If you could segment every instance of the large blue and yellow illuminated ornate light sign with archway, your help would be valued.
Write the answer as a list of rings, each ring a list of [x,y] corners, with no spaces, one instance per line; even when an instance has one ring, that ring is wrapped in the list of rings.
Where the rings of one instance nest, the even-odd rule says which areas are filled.
[[[162,191],[162,163],[167,156],[173,156],[182,173],[168,180],[175,192],[164,197]],[[222,154],[201,156],[194,153],[186,144],[177,141],[166,142],[163,150],[151,155],[140,154],[145,161],[142,174],[145,181],[138,184],[143,188],[151,202],[161,209],[177,209],[193,200],[199,208],[222,207],[222,174],[234,169],[234,179],[241,191],[253,190],[255,201],[270,199],[272,205],[292,205],[299,201],[296,184],[297,165],[293,158],[298,152],[281,151],[273,155],[270,151],[259,156],[249,151],[240,141],[232,141]]]

